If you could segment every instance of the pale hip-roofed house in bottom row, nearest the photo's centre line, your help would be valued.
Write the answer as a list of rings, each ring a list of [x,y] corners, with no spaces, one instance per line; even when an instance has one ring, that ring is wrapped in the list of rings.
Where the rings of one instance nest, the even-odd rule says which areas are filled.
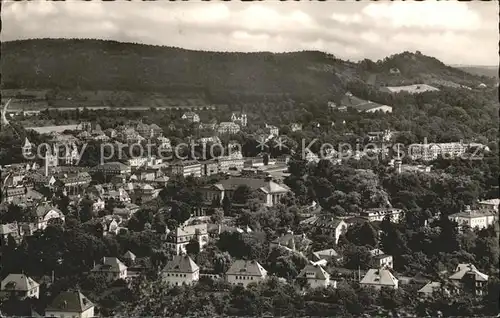
[[[253,282],[261,282],[266,278],[267,271],[254,260],[236,260],[226,272],[228,283],[243,287]]]

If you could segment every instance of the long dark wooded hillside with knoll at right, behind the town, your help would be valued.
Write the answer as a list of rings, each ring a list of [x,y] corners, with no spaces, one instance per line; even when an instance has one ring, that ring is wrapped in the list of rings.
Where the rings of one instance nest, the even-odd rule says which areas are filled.
[[[418,52],[352,63],[317,51],[221,53],[73,39],[12,41],[1,50],[2,88],[49,90],[46,100],[52,106],[167,106],[172,98],[200,103],[328,100],[342,95],[351,81],[374,86],[448,81],[474,87],[487,80]],[[392,74],[393,68],[400,73]]]

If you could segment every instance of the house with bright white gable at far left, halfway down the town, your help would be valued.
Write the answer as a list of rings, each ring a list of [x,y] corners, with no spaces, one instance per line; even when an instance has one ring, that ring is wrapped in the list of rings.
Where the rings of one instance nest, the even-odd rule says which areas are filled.
[[[45,230],[49,224],[64,223],[64,214],[47,202],[39,202],[29,208],[26,222],[20,223],[21,236],[33,235],[36,230]]]

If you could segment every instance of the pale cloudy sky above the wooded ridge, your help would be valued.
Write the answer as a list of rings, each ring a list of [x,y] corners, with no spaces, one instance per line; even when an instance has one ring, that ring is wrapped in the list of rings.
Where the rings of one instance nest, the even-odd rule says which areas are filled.
[[[342,59],[421,51],[498,65],[496,1],[2,1],[1,40],[97,38],[208,51],[320,50]]]

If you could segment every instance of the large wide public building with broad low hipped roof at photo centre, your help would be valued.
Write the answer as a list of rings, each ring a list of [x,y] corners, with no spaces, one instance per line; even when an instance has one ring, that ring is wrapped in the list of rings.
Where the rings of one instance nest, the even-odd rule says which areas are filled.
[[[240,186],[248,186],[252,191],[262,196],[262,202],[266,206],[274,206],[289,192],[288,188],[272,181],[270,177],[265,179],[257,178],[229,178],[221,180],[219,183],[212,184],[200,189],[205,202],[219,200],[222,204],[224,196],[230,199],[234,191]]]

